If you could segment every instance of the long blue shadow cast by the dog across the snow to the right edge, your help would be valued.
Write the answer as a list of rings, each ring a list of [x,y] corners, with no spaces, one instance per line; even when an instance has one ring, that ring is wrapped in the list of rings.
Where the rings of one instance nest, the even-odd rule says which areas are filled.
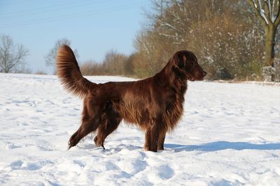
[[[280,150],[280,144],[250,144],[248,142],[214,141],[201,145],[165,144],[165,148],[171,148],[175,152],[201,150],[214,152],[218,150]]]

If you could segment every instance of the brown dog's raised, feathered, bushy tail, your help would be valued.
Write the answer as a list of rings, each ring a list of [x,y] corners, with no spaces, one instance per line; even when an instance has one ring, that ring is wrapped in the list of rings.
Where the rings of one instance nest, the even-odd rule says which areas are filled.
[[[88,91],[97,85],[83,77],[76,57],[68,45],[62,45],[57,51],[57,76],[64,88],[80,98],[84,98]]]

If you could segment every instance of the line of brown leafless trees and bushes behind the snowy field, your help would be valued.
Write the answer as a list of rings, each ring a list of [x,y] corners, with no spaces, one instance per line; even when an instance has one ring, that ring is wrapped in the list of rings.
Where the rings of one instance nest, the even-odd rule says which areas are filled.
[[[134,39],[135,52],[126,56],[111,50],[102,63],[82,63],[84,75],[149,77],[174,52],[188,49],[208,72],[208,79],[280,81],[280,0],[152,2]],[[47,65],[55,63],[62,44],[71,42],[57,40],[45,56]]]

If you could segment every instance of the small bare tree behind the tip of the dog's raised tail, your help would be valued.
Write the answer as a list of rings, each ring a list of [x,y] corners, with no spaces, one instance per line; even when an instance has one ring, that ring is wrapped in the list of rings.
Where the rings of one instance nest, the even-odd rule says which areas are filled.
[[[55,67],[55,59],[56,59],[56,56],[57,56],[57,49],[61,45],[71,45],[71,40],[69,40],[67,38],[62,38],[60,40],[57,40],[55,42],[55,46],[52,47],[52,49],[50,49],[50,52],[48,52],[48,54],[45,56],[45,65]],[[76,59],[78,59],[78,51],[76,49],[74,50],[74,54],[76,56]]]

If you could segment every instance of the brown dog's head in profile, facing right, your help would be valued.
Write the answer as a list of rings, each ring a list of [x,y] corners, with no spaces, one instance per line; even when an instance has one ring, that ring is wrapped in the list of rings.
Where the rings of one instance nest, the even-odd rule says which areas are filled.
[[[207,75],[197,63],[197,57],[193,52],[181,50],[172,57],[173,69],[177,75],[190,81],[201,81]]]

